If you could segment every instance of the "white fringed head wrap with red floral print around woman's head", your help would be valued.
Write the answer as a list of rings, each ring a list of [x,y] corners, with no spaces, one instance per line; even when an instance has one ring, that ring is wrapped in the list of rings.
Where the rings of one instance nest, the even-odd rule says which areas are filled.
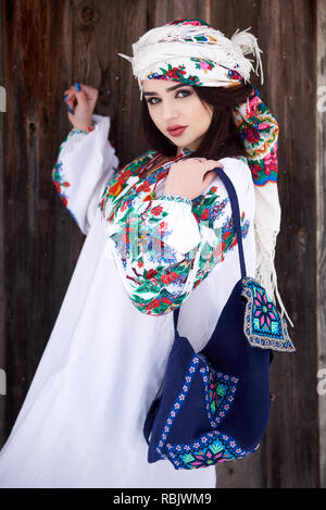
[[[133,45],[134,57],[118,53],[133,65],[138,79],[140,99],[142,79],[163,78],[188,85],[230,87],[241,79],[249,82],[252,61],[244,55],[253,53],[255,73],[263,69],[258,40],[247,30],[236,32],[230,39],[201,20],[184,20],[152,28]]]

